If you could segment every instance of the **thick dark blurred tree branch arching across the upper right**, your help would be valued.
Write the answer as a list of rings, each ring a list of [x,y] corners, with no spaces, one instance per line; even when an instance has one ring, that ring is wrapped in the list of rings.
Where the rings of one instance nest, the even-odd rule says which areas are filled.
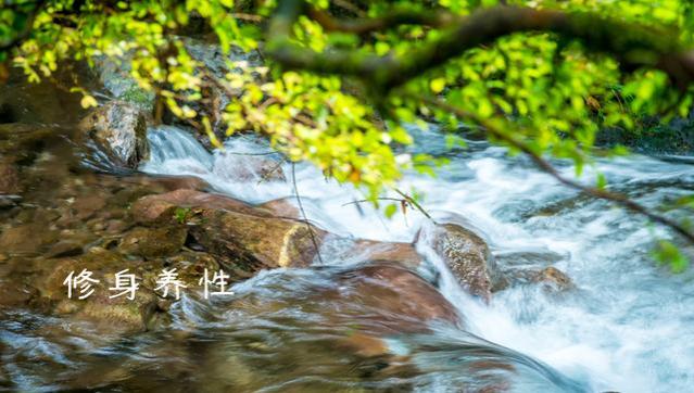
[[[311,12],[303,0],[283,0],[269,24],[267,53],[286,68],[321,74],[351,75],[365,79],[383,92],[459,56],[465,51],[496,39],[529,31],[554,33],[579,40],[592,51],[614,55],[623,67],[641,66],[666,72],[679,88],[694,80],[694,52],[678,45],[678,34],[602,17],[591,13],[565,13],[518,7],[495,7],[446,23],[450,28],[406,55],[378,56],[352,51],[315,52],[291,42],[291,27],[299,16]],[[315,17],[316,14],[313,13]],[[436,13],[415,16],[394,12],[376,20],[337,22],[318,14],[318,23],[348,31],[370,31],[396,23],[441,23]],[[439,18],[439,20],[437,20]],[[437,22],[438,21],[438,22]]]

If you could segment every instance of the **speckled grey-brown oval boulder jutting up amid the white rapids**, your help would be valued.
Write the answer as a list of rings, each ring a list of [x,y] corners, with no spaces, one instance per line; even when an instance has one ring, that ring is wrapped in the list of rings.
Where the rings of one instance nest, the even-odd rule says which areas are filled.
[[[494,281],[501,274],[487,242],[457,224],[436,225],[427,238],[460,286],[489,302]]]

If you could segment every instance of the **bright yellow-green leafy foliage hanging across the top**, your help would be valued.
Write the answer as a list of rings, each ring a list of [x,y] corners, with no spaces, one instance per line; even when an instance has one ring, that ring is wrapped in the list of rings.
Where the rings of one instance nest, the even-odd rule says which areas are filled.
[[[156,94],[156,118],[166,106],[213,141],[217,122],[200,109],[210,104],[205,91],[223,89],[238,97],[223,112],[227,135],[262,132],[292,161],[310,160],[337,180],[363,187],[375,203],[404,169],[431,173],[440,164],[394,150],[413,142],[404,125],[430,118],[452,132],[463,127],[483,132],[560,182],[694,242],[681,214],[691,212],[694,198],[678,201],[678,216],[653,212],[610,191],[602,176],[583,185],[545,159],[570,159],[580,174],[601,152],[594,145],[598,130],[639,132],[647,116],[687,114],[694,78],[689,1],[5,4],[0,11],[5,74],[8,66],[18,66],[39,80],[66,60],[128,62],[139,88]],[[257,50],[265,62],[229,64],[236,72],[216,76],[186,45],[186,31],[201,21],[224,51]],[[88,91],[75,89],[85,94],[85,106],[97,104]],[[681,267],[677,248],[661,244],[655,254]]]

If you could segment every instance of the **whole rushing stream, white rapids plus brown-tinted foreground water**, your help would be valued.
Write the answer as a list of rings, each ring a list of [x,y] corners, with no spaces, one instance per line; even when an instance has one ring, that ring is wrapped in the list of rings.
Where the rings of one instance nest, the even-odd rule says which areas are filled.
[[[418,145],[452,162],[437,178],[407,174],[401,189],[422,191],[424,206],[436,219],[477,230],[500,265],[555,266],[577,288],[554,293],[516,286],[485,305],[468,296],[420,245],[427,259],[422,277],[456,307],[465,328],[434,322],[429,332],[386,334],[383,355],[365,359],[340,346],[353,337],[350,324],[368,326],[364,318],[373,312],[368,293],[349,272],[363,261],[345,254],[339,241],[328,242],[314,266],[263,271],[236,284],[232,300],[185,296],[164,332],[123,338],[17,312],[0,322],[0,348],[16,353],[3,358],[5,372],[26,391],[673,392],[694,386],[694,274],[670,275],[648,256],[654,239],[668,238],[667,231],[558,186],[503,149],[470,142],[451,152],[437,132],[413,131]],[[287,182],[263,181],[260,175],[240,180],[239,166],[274,156],[250,137],[229,140],[214,154],[173,127],[152,130],[149,138],[152,156],[141,170],[193,175],[250,203],[293,198],[298,191],[307,217],[342,238],[412,242],[420,229],[426,238],[431,226],[416,211],[387,219],[358,203],[364,199],[358,190],[326,180],[310,165],[292,170],[285,164]],[[575,170],[557,165],[569,176]],[[610,187],[647,206],[694,189],[686,163],[635,156],[601,162],[598,168]],[[586,169],[583,180],[594,176]],[[480,369],[480,362],[502,367]]]

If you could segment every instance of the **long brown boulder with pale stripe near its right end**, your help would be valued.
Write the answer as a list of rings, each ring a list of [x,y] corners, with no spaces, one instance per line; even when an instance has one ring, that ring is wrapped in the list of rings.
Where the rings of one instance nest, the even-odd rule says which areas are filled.
[[[326,236],[301,220],[194,190],[144,196],[131,213],[142,224],[186,224],[194,242],[241,277],[264,268],[307,266]]]

